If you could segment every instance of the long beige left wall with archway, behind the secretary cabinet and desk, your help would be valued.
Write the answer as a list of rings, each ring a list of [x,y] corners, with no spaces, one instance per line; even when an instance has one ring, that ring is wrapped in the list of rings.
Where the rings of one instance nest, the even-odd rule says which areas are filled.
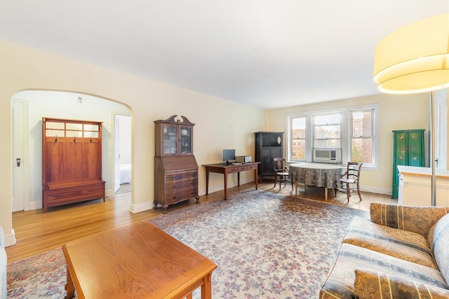
[[[254,152],[254,134],[264,130],[264,111],[199,92],[177,88],[0,41],[0,225],[13,243],[11,217],[11,98],[20,90],[65,90],[121,102],[130,108],[133,127],[133,197],[131,211],[152,208],[154,200],[154,120],[189,118],[194,154],[200,166],[199,192],[205,192],[203,164],[220,162],[222,148]],[[241,180],[253,181],[248,172]],[[231,186],[235,182],[231,180]],[[212,174],[210,190],[220,190],[222,175]]]

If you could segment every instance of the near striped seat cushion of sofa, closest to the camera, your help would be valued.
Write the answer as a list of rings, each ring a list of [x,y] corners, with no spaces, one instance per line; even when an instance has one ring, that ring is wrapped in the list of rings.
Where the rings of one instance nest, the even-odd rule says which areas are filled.
[[[401,279],[410,279],[421,284],[449,289],[441,273],[431,267],[411,263],[394,256],[342,243],[337,260],[321,287],[320,298],[354,298],[355,270],[368,268],[384,272]]]

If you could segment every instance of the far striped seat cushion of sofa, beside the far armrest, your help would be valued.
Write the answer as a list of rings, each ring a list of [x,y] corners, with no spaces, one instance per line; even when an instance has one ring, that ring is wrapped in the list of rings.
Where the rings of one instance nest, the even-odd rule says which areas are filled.
[[[354,216],[343,242],[438,270],[427,239],[416,232],[389,228]]]

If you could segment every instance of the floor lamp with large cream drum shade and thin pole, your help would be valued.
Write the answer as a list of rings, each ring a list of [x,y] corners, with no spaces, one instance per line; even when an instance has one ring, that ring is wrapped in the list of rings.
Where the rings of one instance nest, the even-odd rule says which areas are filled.
[[[431,205],[436,205],[434,97],[449,88],[449,13],[402,27],[377,44],[374,81],[380,92],[430,92]]]

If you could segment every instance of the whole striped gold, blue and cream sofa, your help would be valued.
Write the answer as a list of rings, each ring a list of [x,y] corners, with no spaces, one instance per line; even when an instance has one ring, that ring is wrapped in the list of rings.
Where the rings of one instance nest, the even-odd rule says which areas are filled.
[[[370,204],[354,216],[319,298],[449,298],[449,207]]]

